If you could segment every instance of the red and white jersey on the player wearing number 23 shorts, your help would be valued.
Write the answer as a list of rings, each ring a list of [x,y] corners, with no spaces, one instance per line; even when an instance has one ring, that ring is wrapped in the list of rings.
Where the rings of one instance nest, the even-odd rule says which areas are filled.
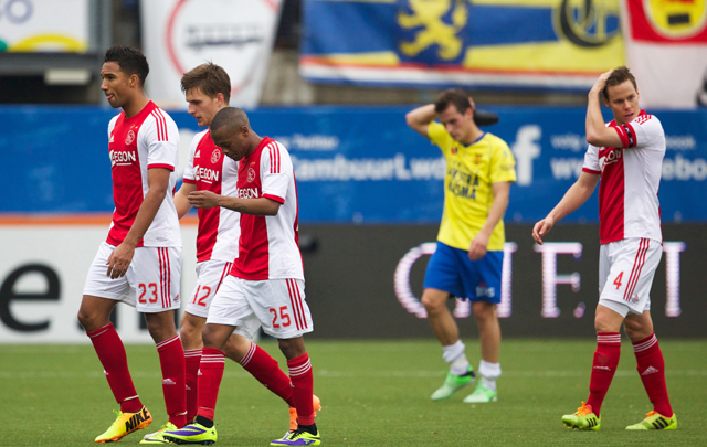
[[[179,130],[175,121],[149,102],[134,117],[126,118],[125,111],[114,117],[108,125],[108,138],[115,211],[106,242],[120,245],[149,190],[147,170],[166,168],[172,171],[167,195],[137,246],[181,247],[179,219],[173,202],[179,147]]]

